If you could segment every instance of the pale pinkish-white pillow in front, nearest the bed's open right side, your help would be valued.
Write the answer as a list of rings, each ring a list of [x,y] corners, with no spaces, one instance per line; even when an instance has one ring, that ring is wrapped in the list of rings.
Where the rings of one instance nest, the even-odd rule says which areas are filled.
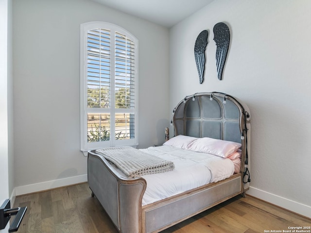
[[[241,146],[241,143],[237,142],[203,137],[192,141],[186,149],[227,158],[229,155],[239,150]]]

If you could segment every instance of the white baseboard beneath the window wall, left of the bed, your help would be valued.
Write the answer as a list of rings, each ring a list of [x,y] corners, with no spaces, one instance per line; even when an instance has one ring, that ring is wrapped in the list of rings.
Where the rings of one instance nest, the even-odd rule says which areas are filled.
[[[15,187],[15,196],[87,182],[87,174]]]

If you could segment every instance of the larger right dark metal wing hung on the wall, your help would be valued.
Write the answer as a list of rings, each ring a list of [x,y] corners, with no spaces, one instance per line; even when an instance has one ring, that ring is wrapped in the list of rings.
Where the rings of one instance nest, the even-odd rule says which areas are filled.
[[[218,79],[222,80],[223,70],[225,66],[225,60],[227,57],[229,43],[230,43],[230,31],[225,23],[217,23],[214,26],[214,41],[216,42],[216,66]]]

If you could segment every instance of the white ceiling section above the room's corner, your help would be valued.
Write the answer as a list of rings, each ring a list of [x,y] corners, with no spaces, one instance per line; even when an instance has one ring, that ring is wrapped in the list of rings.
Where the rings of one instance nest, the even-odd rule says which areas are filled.
[[[213,0],[94,0],[121,12],[172,27]]]

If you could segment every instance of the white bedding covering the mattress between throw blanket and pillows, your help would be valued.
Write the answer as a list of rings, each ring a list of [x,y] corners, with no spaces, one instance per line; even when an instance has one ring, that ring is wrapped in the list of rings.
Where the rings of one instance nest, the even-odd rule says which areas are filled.
[[[175,148],[172,146],[140,149],[172,161],[173,171],[142,176],[147,181],[142,205],[171,197],[187,190],[217,182],[233,175],[234,164],[228,158]]]

